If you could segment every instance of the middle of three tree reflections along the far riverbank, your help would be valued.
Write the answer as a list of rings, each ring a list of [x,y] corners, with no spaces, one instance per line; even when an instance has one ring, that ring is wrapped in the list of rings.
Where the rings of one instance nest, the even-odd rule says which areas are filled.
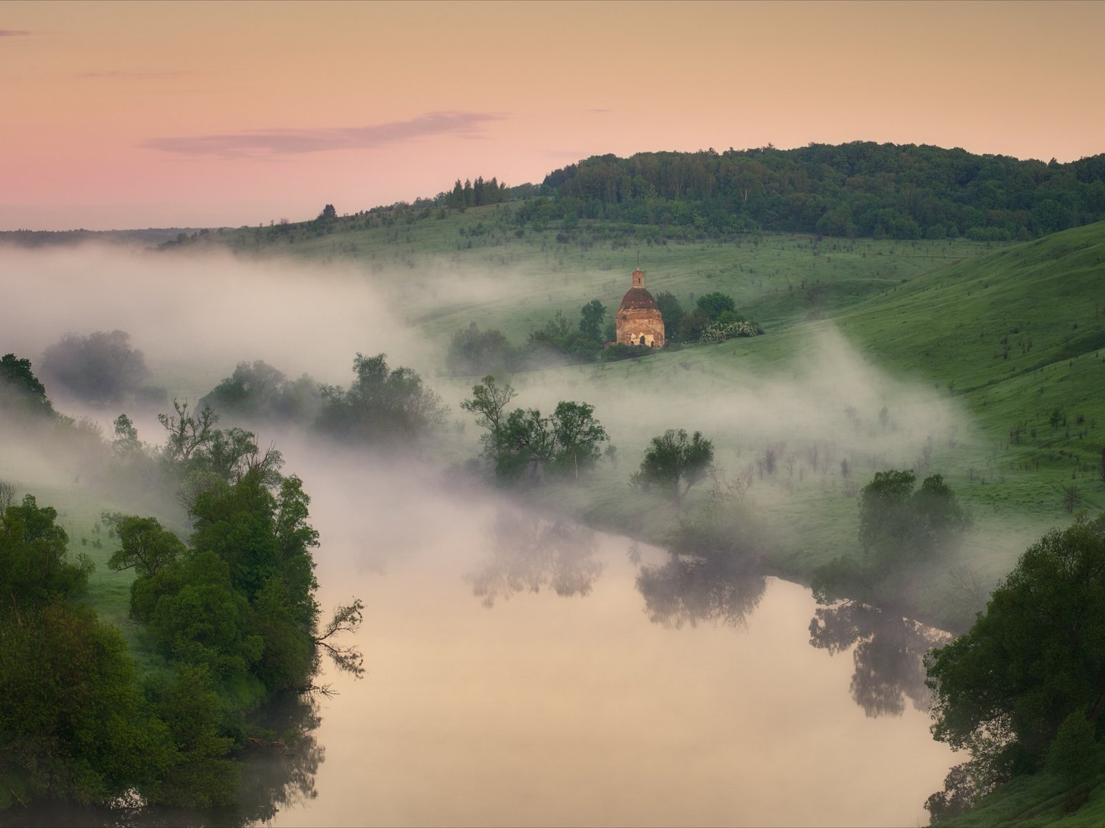
[[[767,578],[733,558],[680,558],[645,565],[636,576],[653,624],[678,629],[701,622],[740,626],[759,605]]]

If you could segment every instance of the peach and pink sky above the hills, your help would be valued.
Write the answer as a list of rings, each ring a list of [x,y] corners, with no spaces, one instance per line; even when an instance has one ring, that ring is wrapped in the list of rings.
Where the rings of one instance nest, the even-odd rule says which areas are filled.
[[[0,230],[355,213],[592,155],[1105,151],[1103,2],[0,3]]]

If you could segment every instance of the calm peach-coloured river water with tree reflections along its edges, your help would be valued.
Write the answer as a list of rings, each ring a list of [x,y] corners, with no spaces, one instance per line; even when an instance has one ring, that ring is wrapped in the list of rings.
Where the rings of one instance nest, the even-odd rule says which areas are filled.
[[[324,607],[366,604],[365,671],[324,661],[313,778],[273,824],[927,822],[961,761],[928,732],[933,630],[410,491],[313,506]]]

